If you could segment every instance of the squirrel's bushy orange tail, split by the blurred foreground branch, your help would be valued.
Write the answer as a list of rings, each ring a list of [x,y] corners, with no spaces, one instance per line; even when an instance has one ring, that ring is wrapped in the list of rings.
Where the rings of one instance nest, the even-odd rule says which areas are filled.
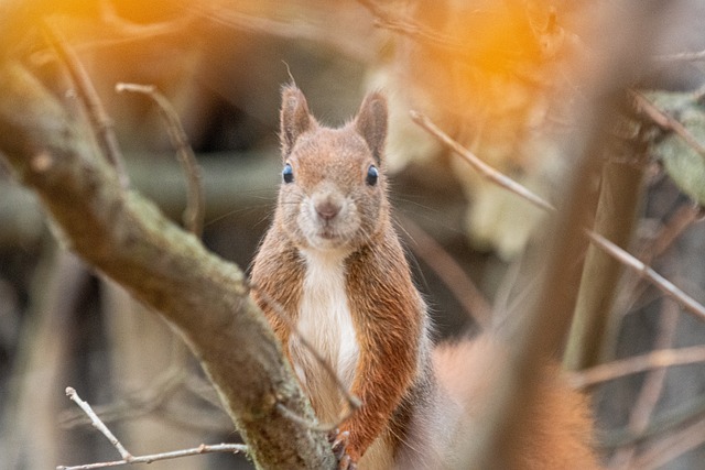
[[[484,334],[436,348],[433,362],[438,403],[431,422],[441,426],[436,430],[442,440],[434,446],[438,461],[433,468],[474,468],[467,458],[473,446],[481,445],[478,430],[487,426],[482,417],[500,395],[498,371],[509,363],[508,348],[490,334]],[[546,363],[538,370],[541,400],[528,405],[532,406],[530,418],[511,442],[511,469],[503,468],[599,469],[592,449],[593,420],[587,397],[567,385],[557,364]]]

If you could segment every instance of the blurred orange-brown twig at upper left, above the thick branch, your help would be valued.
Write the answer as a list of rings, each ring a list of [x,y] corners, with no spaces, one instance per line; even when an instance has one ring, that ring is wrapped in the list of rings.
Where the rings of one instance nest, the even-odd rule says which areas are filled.
[[[104,156],[118,174],[120,185],[123,188],[128,188],[130,179],[122,163],[122,152],[120,152],[120,145],[115,135],[112,120],[100,102],[88,73],[58,30],[46,22],[44,22],[43,26],[50,45],[68,70],[76,92],[86,107],[91,128]]]

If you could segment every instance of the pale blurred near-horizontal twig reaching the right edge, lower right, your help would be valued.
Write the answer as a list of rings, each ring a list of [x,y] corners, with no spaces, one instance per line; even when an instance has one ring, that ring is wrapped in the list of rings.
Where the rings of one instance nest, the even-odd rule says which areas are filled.
[[[680,349],[661,349],[646,354],[634,356],[628,359],[596,365],[581,372],[568,374],[568,381],[576,389],[584,389],[631,375],[646,372],[651,369],[668,368],[673,365],[686,365],[705,362],[705,346],[692,346]]]

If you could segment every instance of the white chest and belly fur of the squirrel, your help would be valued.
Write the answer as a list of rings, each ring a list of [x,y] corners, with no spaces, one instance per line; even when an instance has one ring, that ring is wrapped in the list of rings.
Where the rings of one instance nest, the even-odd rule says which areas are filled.
[[[304,258],[306,275],[296,325],[299,332],[349,386],[358,343],[346,294],[345,256],[316,250],[304,252]],[[292,340],[290,348],[296,373],[319,419],[336,422],[343,411],[337,385],[300,341]]]

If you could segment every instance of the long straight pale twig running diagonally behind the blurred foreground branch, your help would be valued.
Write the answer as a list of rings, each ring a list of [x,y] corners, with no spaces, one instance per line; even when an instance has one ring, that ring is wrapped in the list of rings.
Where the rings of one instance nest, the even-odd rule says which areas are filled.
[[[477,170],[481,176],[487,179],[494,182],[495,184],[503,187],[505,189],[522,197],[534,206],[544,209],[550,212],[555,212],[555,208],[543,198],[532,193],[524,186],[520,185],[516,181],[510,177],[503,175],[498,172],[487,163],[482,162],[478,159],[473,152],[465,149],[458,142],[453,140],[448,134],[443,132],[437,125],[435,125],[426,116],[417,112],[410,111],[411,119],[425,129],[429,133],[435,136],[440,142],[446,145],[456,154],[460,155],[468,162],[475,170]],[[630,270],[634,271],[637,274],[641,275],[649,282],[651,282],[655,287],[658,287],[662,293],[668,295],[677,302],[681,306],[683,306],[687,311],[692,313],[699,319],[705,319],[705,307],[696,302],[693,297],[681,291],[673,283],[661,276],[659,273],[653,271],[643,262],[637,260],[634,256],[629,254],[627,251],[619,248],[617,244],[607,240],[605,237],[595,233],[590,230],[586,230],[585,233],[589,237],[590,241],[595,243],[598,248],[604,250],[606,253],[610,254],[615,259],[619,260],[622,264],[625,264]]]

